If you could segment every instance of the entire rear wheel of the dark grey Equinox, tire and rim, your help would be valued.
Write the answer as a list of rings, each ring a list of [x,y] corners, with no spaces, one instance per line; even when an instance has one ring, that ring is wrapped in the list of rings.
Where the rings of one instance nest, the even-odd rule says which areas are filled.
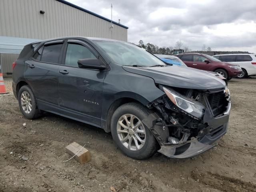
[[[41,112],[37,107],[36,98],[28,85],[24,85],[20,88],[18,93],[18,102],[20,111],[25,118],[36,119],[40,116]]]

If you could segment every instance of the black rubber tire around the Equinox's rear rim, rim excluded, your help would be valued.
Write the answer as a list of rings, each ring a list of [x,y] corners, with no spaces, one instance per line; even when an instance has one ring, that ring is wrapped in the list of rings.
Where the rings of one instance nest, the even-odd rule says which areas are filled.
[[[31,104],[32,104],[31,108],[32,109],[29,113],[26,113],[25,110],[22,108],[21,96],[22,96],[23,92],[27,92],[31,98]],[[18,93],[18,102],[19,102],[19,106],[20,106],[20,111],[25,116],[25,118],[36,119],[40,116],[41,112],[37,107],[36,98],[28,85],[24,85],[20,88],[19,93]]]

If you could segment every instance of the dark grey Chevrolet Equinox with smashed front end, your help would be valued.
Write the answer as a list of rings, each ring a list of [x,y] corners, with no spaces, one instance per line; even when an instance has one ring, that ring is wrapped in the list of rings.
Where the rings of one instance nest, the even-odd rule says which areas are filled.
[[[189,158],[213,148],[231,107],[218,77],[103,38],[26,45],[13,63],[12,88],[26,118],[47,111],[102,128],[135,159],[156,151]]]

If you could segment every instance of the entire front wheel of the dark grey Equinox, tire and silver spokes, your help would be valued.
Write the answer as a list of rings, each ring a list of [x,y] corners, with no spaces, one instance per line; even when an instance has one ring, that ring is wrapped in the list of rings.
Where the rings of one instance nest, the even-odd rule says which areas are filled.
[[[149,110],[147,110],[144,106],[137,103],[127,103],[118,107],[112,116],[111,133],[112,133],[113,140],[118,146],[118,148],[120,148],[120,150],[130,158],[134,158],[138,160],[146,159],[151,157],[158,149],[158,142],[156,141],[156,138],[154,137],[152,132],[149,130],[149,128],[141,122],[144,118],[148,117],[149,114],[150,114]],[[127,117],[128,122],[130,122],[131,118],[133,119],[132,121],[133,123],[129,124],[131,128],[127,126],[128,124],[126,123],[124,116]],[[122,121],[123,125],[126,126],[127,129],[126,128],[124,129],[124,127],[122,127],[118,123],[118,121]],[[140,124],[140,126],[138,126],[138,124]],[[132,129],[132,127],[136,127],[136,126],[138,126],[138,128]],[[122,131],[126,131],[126,132],[121,132],[121,133],[118,132],[118,130],[121,130],[121,129]],[[133,130],[140,131],[140,132],[144,131],[144,134],[134,132]],[[138,136],[140,137],[140,140],[144,142],[144,144],[143,142],[140,143],[140,140],[137,139]],[[137,144],[139,148],[137,147],[134,138],[135,140],[137,140]],[[126,142],[121,142],[121,139],[124,139],[124,140],[126,139]],[[131,142],[131,146],[129,147],[130,140],[132,140],[132,142]]]

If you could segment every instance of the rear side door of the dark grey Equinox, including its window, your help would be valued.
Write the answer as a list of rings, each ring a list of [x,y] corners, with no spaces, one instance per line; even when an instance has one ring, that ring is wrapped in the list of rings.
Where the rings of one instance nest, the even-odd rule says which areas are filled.
[[[25,62],[24,77],[32,87],[38,103],[57,104],[58,68],[64,40],[46,42]]]

